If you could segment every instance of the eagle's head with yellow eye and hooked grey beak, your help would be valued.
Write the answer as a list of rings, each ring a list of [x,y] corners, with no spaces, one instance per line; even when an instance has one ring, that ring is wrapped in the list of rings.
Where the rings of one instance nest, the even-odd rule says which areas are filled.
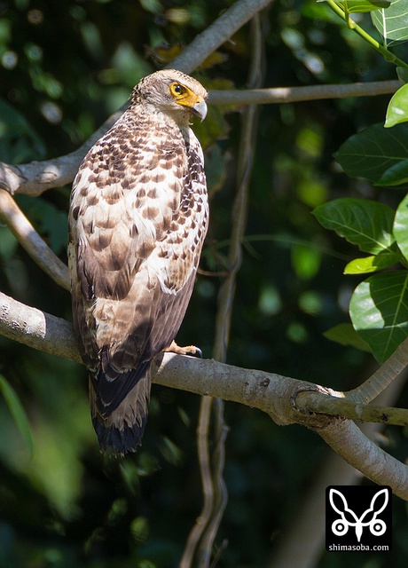
[[[132,100],[142,99],[170,114],[176,122],[188,122],[192,115],[203,121],[207,115],[204,87],[176,69],[162,69],[142,79],[133,91]]]

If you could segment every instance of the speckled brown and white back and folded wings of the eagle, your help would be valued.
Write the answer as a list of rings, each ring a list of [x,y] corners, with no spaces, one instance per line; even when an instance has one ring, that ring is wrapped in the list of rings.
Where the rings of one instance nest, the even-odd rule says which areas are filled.
[[[141,118],[128,117],[126,138],[119,122],[90,150],[72,193],[75,329],[103,416],[177,335],[207,225],[197,139],[191,130],[169,137],[159,123],[143,146]],[[136,157],[123,138],[137,139]]]

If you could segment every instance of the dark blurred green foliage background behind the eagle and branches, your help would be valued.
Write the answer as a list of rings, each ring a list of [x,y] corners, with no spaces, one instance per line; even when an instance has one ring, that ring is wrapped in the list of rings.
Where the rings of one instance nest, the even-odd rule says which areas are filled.
[[[29,162],[75,150],[125,102],[138,79],[156,68],[157,59],[166,57],[166,49],[149,57],[154,48],[191,42],[231,4],[0,2],[0,160]],[[393,66],[337,26],[323,4],[275,2],[263,19],[269,23],[265,86],[395,78]],[[369,15],[364,22],[371,25]],[[404,46],[399,49],[404,54]],[[223,80],[245,88],[249,50],[244,27],[220,48],[227,57],[196,75],[209,87]],[[376,279],[376,289],[382,289],[384,279],[396,280],[396,299],[405,300],[406,198],[399,205],[400,190],[390,193],[346,176],[333,154],[338,151],[343,170],[352,176],[366,175],[380,183],[388,172],[395,181],[401,172],[389,169],[406,165],[408,138],[405,124],[383,128],[388,100],[382,96],[260,108],[229,363],[341,390],[370,373],[373,357],[355,349],[361,341],[353,334],[347,332],[346,339],[342,335],[342,345],[323,334],[349,323],[352,290],[359,285],[358,300],[373,281],[360,284],[365,278],[361,273],[372,270],[358,269],[357,276],[356,269],[353,275],[342,273],[356,260],[356,245],[373,256],[365,263],[374,270],[388,265],[389,256],[381,260],[384,252],[396,255],[391,260],[400,262],[400,272],[378,272],[370,279]],[[239,112],[225,114],[221,107],[210,107],[201,128],[211,192],[211,227],[201,261],[206,273],[198,277],[177,341],[200,345],[204,357],[211,357],[216,295],[234,222]],[[386,153],[380,161],[373,152],[379,143]],[[404,178],[405,184],[405,177],[406,170],[398,179]],[[18,196],[21,209],[64,261],[68,198],[69,187],[38,198]],[[375,219],[375,235],[365,223],[357,237],[356,227],[362,228],[368,210]],[[342,231],[327,225],[346,213]],[[0,289],[70,318],[67,292],[43,275],[3,226]],[[393,310],[390,306],[388,315]],[[358,306],[356,311],[361,316]],[[404,334],[405,327],[401,330]],[[361,335],[375,352],[371,338]],[[382,351],[376,355],[384,359],[390,351],[384,352],[380,343]],[[12,406],[16,412],[15,402],[9,400],[7,406],[0,397],[0,568],[177,566],[201,507],[195,448],[199,398],[154,386],[143,449],[119,461],[98,454],[83,367],[0,336],[0,373],[25,409],[35,444],[31,457],[21,436],[25,428],[9,410]],[[407,404],[407,394],[398,406]],[[216,545],[224,539],[229,545],[219,565],[263,567],[279,535],[292,524],[326,446],[310,431],[279,428],[266,414],[244,406],[226,405],[226,422],[231,428],[225,468],[230,498]],[[388,429],[385,436],[387,449],[404,460],[404,431]],[[337,568],[346,561],[349,568],[404,566],[406,512],[397,501],[395,509],[392,556],[362,553],[344,560],[331,554],[318,565]]]

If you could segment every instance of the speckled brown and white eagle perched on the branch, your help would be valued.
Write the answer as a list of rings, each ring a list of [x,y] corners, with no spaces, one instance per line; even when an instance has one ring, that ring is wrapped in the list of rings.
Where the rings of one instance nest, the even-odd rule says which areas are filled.
[[[147,75],[74,180],[73,320],[101,452],[137,451],[150,362],[160,351],[177,351],[208,228],[204,157],[190,128],[193,116],[206,117],[207,96],[175,69]]]

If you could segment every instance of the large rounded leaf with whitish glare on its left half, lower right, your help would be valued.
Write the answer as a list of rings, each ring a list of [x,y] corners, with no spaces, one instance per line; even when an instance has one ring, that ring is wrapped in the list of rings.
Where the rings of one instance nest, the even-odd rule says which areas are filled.
[[[380,272],[359,284],[349,313],[358,335],[383,363],[408,335],[408,272]]]

